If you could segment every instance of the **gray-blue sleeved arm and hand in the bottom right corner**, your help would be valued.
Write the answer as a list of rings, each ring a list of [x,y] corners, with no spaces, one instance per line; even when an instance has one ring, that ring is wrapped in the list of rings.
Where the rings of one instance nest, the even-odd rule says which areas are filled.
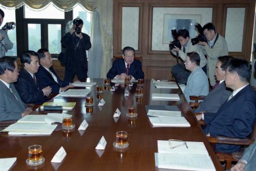
[[[231,168],[231,171],[249,171],[256,168],[256,142],[245,149],[241,159]]]

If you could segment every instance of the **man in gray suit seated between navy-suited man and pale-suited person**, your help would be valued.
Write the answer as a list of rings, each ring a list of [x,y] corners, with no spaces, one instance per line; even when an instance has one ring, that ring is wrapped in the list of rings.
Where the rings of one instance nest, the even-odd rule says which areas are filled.
[[[195,113],[205,111],[216,113],[222,106],[222,104],[227,101],[232,90],[226,88],[224,81],[227,66],[230,59],[232,58],[233,57],[230,56],[222,56],[218,58],[218,62],[215,68],[215,77],[218,82],[205,97],[204,101],[200,104],[200,106],[194,111]]]

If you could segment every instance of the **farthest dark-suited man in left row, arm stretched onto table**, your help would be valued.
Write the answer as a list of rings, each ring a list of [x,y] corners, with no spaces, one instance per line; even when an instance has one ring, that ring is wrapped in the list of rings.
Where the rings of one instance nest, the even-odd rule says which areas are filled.
[[[70,85],[70,82],[59,79],[52,67],[51,54],[46,48],[40,48],[37,51],[37,54],[40,66],[35,76],[39,82],[39,89],[50,86],[52,88],[52,93],[59,93],[70,87],[74,87],[74,85]]]

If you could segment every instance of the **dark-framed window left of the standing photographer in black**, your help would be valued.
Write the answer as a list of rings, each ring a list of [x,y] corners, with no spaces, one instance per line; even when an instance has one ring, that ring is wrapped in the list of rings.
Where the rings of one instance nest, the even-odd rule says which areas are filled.
[[[28,50],[37,52],[39,48],[48,48],[53,57],[61,52],[61,33],[64,27],[65,12],[51,3],[44,10],[24,7],[25,43]],[[63,25],[63,26],[62,26]],[[26,42],[26,41],[25,41]],[[55,55],[54,55],[55,54]]]

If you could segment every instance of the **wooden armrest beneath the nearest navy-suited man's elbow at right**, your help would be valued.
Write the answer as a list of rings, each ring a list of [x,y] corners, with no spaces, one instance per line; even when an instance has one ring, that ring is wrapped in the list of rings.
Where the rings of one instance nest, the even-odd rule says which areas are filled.
[[[217,137],[207,137],[209,142],[211,143],[223,143],[223,144],[233,144],[233,145],[250,145],[254,142],[254,139],[240,139],[240,138],[231,138],[225,136],[217,136]]]

